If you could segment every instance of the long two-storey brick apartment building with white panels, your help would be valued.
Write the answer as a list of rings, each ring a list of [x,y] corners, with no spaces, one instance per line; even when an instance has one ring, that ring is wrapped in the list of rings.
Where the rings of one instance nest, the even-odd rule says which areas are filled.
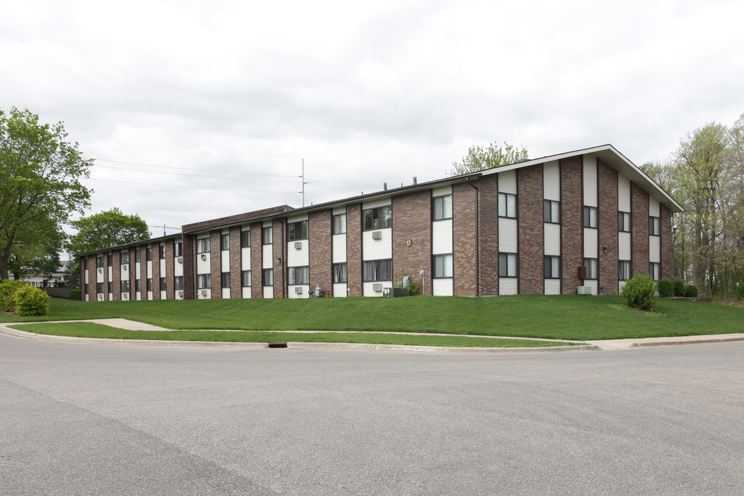
[[[618,294],[670,278],[661,187],[611,145],[313,205],[196,222],[78,255],[83,300]]]

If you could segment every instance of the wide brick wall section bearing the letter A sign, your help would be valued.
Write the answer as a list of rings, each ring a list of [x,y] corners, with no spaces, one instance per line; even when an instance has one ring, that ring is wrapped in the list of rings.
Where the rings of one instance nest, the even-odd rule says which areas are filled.
[[[392,208],[393,279],[405,272],[421,282],[419,272],[426,271],[424,293],[432,294],[432,191],[394,196]]]

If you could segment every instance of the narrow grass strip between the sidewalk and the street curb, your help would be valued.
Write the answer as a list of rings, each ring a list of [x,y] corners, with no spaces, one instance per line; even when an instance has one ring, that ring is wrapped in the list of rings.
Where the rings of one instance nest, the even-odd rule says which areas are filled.
[[[527,339],[474,338],[442,335],[401,335],[376,332],[264,332],[264,331],[127,331],[92,322],[25,323],[12,326],[25,332],[77,338],[157,339],[164,341],[221,341],[232,343],[375,343],[427,347],[551,347],[583,343]]]

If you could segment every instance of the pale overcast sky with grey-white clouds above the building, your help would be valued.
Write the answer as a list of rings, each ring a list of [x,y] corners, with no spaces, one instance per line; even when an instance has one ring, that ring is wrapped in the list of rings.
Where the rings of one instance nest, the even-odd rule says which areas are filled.
[[[96,159],[89,213],[158,236],[301,207],[303,159],[310,204],[493,141],[665,158],[744,112],[742,19],[741,0],[0,0],[0,109],[64,121]]]

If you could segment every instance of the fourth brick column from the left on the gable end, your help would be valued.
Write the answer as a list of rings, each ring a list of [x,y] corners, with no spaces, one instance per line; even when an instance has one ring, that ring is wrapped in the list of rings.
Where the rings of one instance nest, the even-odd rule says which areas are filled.
[[[618,294],[618,171],[599,163],[599,294]]]

